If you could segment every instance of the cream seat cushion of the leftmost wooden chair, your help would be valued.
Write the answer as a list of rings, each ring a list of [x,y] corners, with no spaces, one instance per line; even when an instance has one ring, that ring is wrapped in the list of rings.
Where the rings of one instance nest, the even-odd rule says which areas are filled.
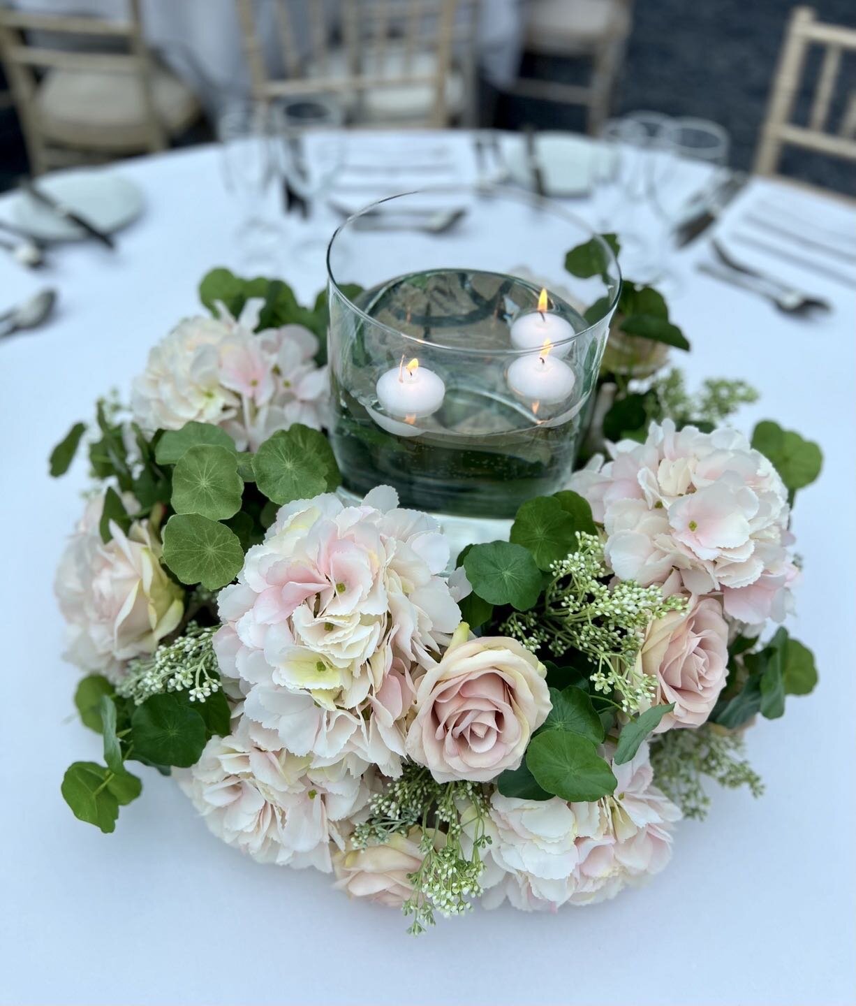
[[[160,66],[152,71],[152,100],[167,136],[199,115],[190,89]],[[36,108],[45,136],[56,143],[117,151],[149,145],[143,88],[135,73],[50,70],[39,85]]]

